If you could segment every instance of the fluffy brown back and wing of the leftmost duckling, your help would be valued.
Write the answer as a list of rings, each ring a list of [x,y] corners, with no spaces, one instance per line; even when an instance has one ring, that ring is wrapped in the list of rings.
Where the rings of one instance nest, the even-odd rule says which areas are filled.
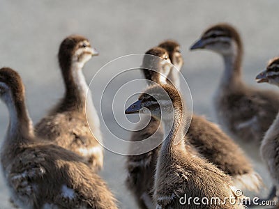
[[[82,157],[54,144],[22,148],[8,179],[15,199],[33,208],[116,208],[107,185]]]

